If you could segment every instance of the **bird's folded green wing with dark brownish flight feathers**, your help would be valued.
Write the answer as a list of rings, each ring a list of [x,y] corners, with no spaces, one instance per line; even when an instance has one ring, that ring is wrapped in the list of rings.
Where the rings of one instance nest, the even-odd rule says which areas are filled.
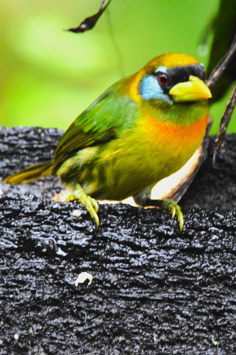
[[[115,139],[133,125],[138,104],[128,95],[118,93],[118,83],[107,89],[69,126],[56,148],[53,174],[76,152]]]

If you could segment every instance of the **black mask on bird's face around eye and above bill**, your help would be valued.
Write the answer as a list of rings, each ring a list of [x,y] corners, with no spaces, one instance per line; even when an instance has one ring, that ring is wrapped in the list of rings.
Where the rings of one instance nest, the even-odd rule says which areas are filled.
[[[153,76],[158,78],[161,74],[161,71],[157,71],[153,73]],[[165,72],[165,75],[168,78],[168,83],[161,86],[165,94],[168,94],[170,89],[176,84],[189,81],[190,75],[197,76],[205,82],[205,69],[201,64],[191,64],[169,68]]]

